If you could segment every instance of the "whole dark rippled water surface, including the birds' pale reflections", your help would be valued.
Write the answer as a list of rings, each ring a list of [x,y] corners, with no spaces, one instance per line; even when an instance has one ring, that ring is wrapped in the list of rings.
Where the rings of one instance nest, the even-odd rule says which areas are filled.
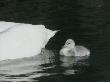
[[[58,52],[55,52],[57,57],[50,58],[55,59],[51,62],[47,56],[45,61],[1,63],[1,82],[110,82],[109,0],[1,0],[0,20],[60,29],[47,49],[59,50],[66,39],[72,38],[91,51],[88,61],[77,64],[74,58],[60,58]],[[61,63],[60,59],[64,61]]]

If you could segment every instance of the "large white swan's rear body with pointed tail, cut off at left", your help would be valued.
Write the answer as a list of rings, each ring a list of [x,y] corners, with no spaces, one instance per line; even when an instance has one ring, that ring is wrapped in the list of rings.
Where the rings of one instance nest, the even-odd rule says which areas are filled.
[[[37,55],[56,32],[44,25],[1,21],[0,60]]]

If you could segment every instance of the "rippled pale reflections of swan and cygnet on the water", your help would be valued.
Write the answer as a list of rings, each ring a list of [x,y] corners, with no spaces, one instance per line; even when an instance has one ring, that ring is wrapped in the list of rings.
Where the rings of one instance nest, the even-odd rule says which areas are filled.
[[[45,80],[46,77],[57,78],[61,76],[62,78],[68,75],[81,74],[89,67],[85,57],[61,56],[58,58],[56,56],[58,54],[53,54],[49,50],[44,51],[43,54],[30,58],[1,61],[0,81],[33,82]]]

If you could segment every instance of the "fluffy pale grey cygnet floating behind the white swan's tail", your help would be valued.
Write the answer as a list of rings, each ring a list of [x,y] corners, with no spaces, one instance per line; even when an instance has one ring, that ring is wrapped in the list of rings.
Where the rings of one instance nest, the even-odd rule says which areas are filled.
[[[84,46],[75,46],[74,40],[68,39],[59,53],[64,56],[89,56],[90,50]]]

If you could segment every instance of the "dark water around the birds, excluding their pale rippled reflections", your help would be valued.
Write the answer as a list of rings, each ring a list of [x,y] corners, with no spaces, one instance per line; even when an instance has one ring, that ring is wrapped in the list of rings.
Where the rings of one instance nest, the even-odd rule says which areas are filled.
[[[49,41],[48,49],[59,50],[68,38],[88,47],[92,53],[91,69],[79,77],[90,82],[110,79],[109,9],[109,0],[1,0],[0,20],[44,24],[49,29],[60,29]],[[64,77],[56,78],[79,81],[77,77],[68,76],[66,80]]]

